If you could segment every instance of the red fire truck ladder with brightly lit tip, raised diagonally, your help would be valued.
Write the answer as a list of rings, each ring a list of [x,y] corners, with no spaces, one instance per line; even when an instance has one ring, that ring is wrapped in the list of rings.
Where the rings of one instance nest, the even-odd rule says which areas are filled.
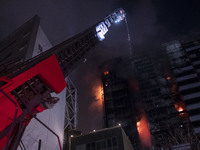
[[[94,26],[53,48],[9,69],[1,68],[0,149],[17,149],[30,120],[59,100],[50,93],[60,93],[67,86],[65,77],[105,38],[113,23],[124,19],[125,11],[116,9]]]

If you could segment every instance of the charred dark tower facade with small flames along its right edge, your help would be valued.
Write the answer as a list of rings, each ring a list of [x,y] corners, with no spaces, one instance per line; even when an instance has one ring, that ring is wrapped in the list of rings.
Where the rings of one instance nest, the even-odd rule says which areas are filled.
[[[139,92],[147,117],[152,148],[169,148],[188,144],[190,137],[184,106],[175,101],[171,92],[172,75],[162,65],[164,56],[147,52],[133,58]],[[166,60],[167,61],[167,60]],[[165,62],[166,63],[166,62]],[[190,144],[189,144],[190,145]]]

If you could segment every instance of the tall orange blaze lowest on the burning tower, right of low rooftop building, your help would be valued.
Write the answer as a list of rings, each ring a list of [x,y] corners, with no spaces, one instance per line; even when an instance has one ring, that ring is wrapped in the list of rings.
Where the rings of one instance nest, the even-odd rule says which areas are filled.
[[[137,130],[139,133],[141,144],[145,147],[151,148],[151,134],[145,114],[143,114],[141,120],[137,122]]]

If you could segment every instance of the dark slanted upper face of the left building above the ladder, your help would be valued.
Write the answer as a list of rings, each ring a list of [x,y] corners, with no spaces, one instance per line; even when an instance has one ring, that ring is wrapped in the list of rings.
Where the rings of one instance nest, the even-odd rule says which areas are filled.
[[[7,67],[12,67],[12,63],[20,63],[32,57],[34,48],[36,48],[35,41],[39,31],[39,22],[39,17],[35,16],[1,41],[1,69],[7,69]]]

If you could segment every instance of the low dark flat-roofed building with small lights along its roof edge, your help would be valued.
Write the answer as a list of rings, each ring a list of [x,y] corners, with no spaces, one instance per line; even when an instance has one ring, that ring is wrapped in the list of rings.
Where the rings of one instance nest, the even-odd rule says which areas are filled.
[[[71,135],[71,150],[133,150],[133,147],[123,129],[115,126],[84,135]]]

